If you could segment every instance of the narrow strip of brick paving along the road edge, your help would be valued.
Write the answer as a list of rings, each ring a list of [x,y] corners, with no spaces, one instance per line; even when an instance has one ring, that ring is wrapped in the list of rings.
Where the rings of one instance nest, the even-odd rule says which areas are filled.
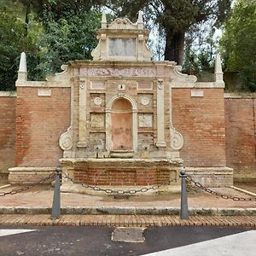
[[[15,216],[15,218],[14,218]],[[255,216],[189,216],[180,219],[177,215],[61,215],[51,219],[48,214],[23,215],[0,214],[1,225],[96,225],[115,227],[149,226],[246,226],[256,227]]]

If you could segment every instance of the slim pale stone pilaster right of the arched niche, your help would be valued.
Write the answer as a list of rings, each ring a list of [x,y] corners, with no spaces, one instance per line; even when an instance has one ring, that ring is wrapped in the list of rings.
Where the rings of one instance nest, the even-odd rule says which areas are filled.
[[[165,141],[165,92],[163,79],[157,80],[157,143],[156,147],[166,148]]]

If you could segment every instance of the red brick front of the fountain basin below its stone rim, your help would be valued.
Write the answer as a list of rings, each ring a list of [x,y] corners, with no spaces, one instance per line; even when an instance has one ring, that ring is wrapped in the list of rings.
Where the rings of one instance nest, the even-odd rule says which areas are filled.
[[[87,183],[90,185],[154,185],[167,184],[170,182],[169,170],[156,170],[154,168],[130,168],[122,170],[111,170],[105,168],[88,168],[87,170],[76,169],[74,178],[76,183]]]

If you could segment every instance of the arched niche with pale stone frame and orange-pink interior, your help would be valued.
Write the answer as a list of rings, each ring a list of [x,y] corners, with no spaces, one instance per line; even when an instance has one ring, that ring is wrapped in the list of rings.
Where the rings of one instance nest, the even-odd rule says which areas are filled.
[[[137,104],[131,96],[114,96],[106,108],[108,152],[137,152]]]

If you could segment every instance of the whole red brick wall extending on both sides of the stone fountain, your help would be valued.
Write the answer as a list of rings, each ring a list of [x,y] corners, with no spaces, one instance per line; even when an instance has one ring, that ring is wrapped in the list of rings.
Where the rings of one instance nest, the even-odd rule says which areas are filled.
[[[173,125],[184,138],[183,166],[229,166],[236,179],[256,178],[255,96],[224,99],[221,89],[203,91],[203,97],[191,97],[190,89],[172,90]],[[16,166],[57,166],[58,139],[70,123],[70,89],[38,96],[37,88],[18,87],[17,98],[0,96],[0,171],[15,166],[15,118]]]

